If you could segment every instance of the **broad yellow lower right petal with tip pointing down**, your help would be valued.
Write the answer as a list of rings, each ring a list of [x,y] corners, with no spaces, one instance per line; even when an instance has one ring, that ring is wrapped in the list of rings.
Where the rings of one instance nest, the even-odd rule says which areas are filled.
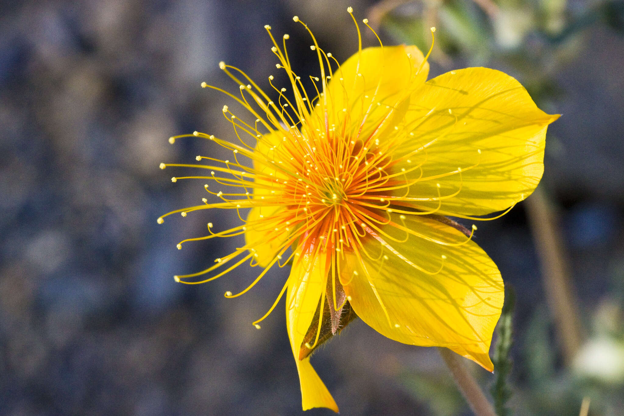
[[[378,239],[366,236],[360,256],[346,254],[341,282],[351,307],[386,337],[447,347],[491,371],[504,297],[496,265],[449,225],[417,215],[392,214],[392,221],[403,230],[383,226]]]

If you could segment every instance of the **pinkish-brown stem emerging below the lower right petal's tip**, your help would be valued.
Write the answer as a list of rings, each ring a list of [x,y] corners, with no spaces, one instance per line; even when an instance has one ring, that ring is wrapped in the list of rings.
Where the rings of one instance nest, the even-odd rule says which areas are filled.
[[[440,352],[442,359],[451,370],[455,383],[472,412],[477,416],[496,416],[492,404],[485,398],[474,377],[464,367],[462,362],[464,358],[444,347],[439,347],[437,351]]]

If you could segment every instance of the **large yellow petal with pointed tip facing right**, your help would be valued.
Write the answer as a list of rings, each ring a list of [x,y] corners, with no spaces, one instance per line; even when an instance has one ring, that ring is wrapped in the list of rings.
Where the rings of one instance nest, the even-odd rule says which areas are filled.
[[[395,167],[422,163],[408,197],[437,198],[439,183],[442,196],[459,191],[442,202],[441,213],[484,215],[526,198],[539,183],[546,128],[558,115],[538,109],[514,78],[487,68],[447,72],[415,90],[410,103],[405,122],[413,135],[395,153],[421,149]]]

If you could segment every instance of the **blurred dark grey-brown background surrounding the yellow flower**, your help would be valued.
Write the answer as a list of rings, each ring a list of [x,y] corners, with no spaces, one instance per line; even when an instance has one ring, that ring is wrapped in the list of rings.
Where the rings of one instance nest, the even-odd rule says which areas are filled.
[[[353,54],[347,6],[385,44],[428,49],[436,26],[431,76],[501,69],[563,114],[539,193],[477,233],[516,294],[499,387],[466,365],[498,402],[513,391],[501,415],[577,415],[584,397],[592,415],[624,414],[624,5],[602,0],[2,2],[0,414],[303,414],[283,307],[250,325],[288,271],[230,300],[250,272],[175,283],[242,239],[178,251],[207,222],[239,220],[199,211],[157,225],[205,196],[203,181],[172,183],[184,170],[158,164],[222,152],[171,135],[233,136],[221,110],[232,100],[200,88],[238,91],[220,60],[261,86],[280,79],[263,25],[291,35],[299,72],[318,67],[295,14],[339,61]],[[470,414],[436,349],[361,321],[313,364],[344,415]]]

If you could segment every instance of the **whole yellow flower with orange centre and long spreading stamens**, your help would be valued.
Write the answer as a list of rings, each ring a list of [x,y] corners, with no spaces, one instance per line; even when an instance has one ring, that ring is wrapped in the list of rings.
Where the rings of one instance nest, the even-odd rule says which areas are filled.
[[[222,201],[203,198],[203,205],[172,213],[222,208],[241,216],[250,208],[240,226],[213,231],[209,223],[209,235],[185,240],[245,236],[232,254],[176,280],[203,283],[246,262],[260,266],[248,288],[225,294],[236,297],[275,264],[292,263],[273,306],[253,324],[259,328],[286,293],[303,409],[338,411],[310,352],[356,315],[386,337],[447,347],[492,370],[488,350],[502,279],[472,241],[476,227],[446,216],[483,220],[474,216],[529,196],[544,170],[546,128],[558,116],[539,110],[519,82],[497,70],[467,68],[427,81],[427,59],[414,46],[362,49],[360,39],[358,52],[339,65],[303,26],[320,66],[320,76],[310,77],[312,94],[291,68],[288,35],[280,45],[265,26],[276,67],[290,80],[288,97],[273,76],[275,100],[222,62],[240,97],[202,86],[229,95],[250,115],[223,107],[235,142],[193,135],[229,149],[231,160],[161,165],[207,169],[210,175],[186,178],[222,185],[218,192],[205,185]],[[202,275],[209,277],[197,281]]]

